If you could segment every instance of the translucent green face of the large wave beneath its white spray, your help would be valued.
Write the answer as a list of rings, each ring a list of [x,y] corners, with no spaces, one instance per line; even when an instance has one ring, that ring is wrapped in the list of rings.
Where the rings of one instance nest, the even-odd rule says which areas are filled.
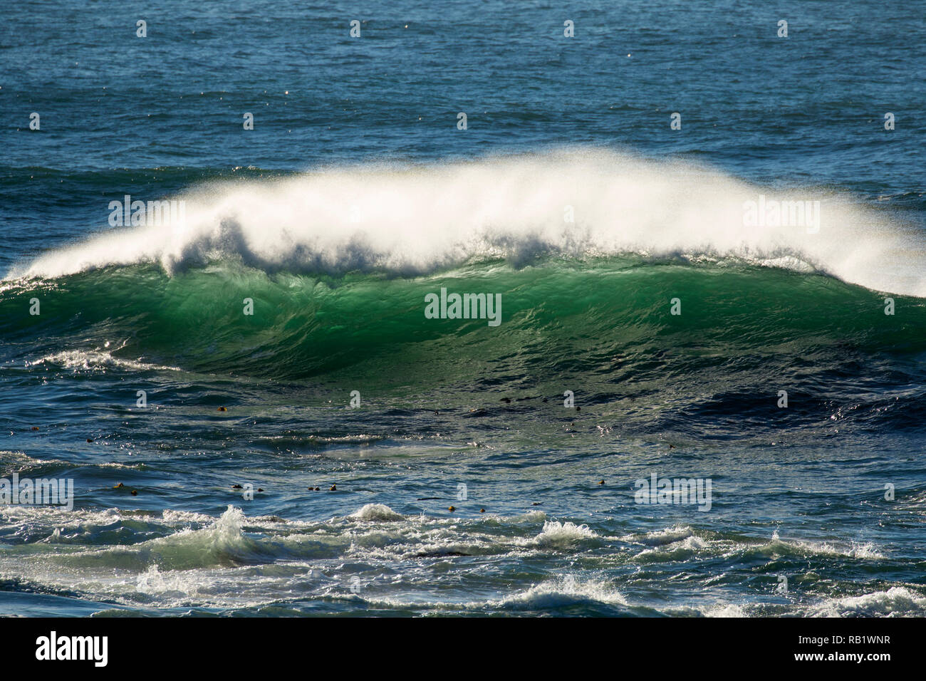
[[[442,287],[499,294],[500,324],[427,319],[426,296]],[[16,284],[0,294],[0,334],[5,359],[109,343],[114,357],[192,372],[364,376],[386,387],[785,380],[850,360],[868,372],[885,359],[916,370],[926,305],[891,299],[893,315],[885,295],[831,277],[735,263],[491,261],[332,278],[226,261],[174,276],[131,266]]]

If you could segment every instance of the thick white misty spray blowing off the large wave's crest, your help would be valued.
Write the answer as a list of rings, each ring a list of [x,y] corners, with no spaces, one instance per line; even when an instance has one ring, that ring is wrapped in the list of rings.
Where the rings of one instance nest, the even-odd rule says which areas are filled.
[[[820,200],[819,232],[746,226],[745,203],[759,195]],[[875,290],[926,296],[922,237],[882,211],[602,150],[330,168],[199,187],[181,198],[181,221],[103,233],[7,277],[54,279],[141,262],[173,272],[229,257],[262,268],[413,273],[473,258],[630,252],[816,269]],[[567,207],[574,222],[565,220]]]

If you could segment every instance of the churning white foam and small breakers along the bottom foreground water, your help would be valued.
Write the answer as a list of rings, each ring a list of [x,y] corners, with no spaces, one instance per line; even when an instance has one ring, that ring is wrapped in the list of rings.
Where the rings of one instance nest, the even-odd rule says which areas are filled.
[[[525,527],[524,516],[498,517],[492,523],[480,518],[468,523],[460,519],[403,517],[382,504],[367,504],[346,516],[327,521],[288,521],[276,517],[245,517],[229,507],[219,517],[190,511],[45,511],[28,510],[27,516],[11,516],[0,510],[5,522],[30,527],[41,537],[28,545],[5,547],[6,559],[0,577],[24,584],[74,591],[92,599],[106,599],[128,606],[177,607],[269,607],[286,612],[294,599],[351,599],[384,607],[427,608],[435,611],[492,612],[496,609],[556,611],[573,605],[604,603],[627,606],[619,581],[598,581],[582,574],[558,572],[541,580],[516,579],[510,584],[487,579],[491,591],[474,598],[463,586],[444,591],[435,588],[435,564],[440,570],[459,561],[471,573],[470,556],[505,556],[513,559],[551,548],[570,549],[588,543],[609,542],[584,525],[544,522]],[[125,545],[86,544],[100,531],[106,534],[123,523],[150,523],[148,535],[157,524],[164,527],[156,536]],[[128,525],[125,525],[128,526]],[[149,535],[150,536],[150,535]],[[613,537],[617,539],[617,537]],[[782,541],[775,536],[761,541],[701,539],[688,525],[669,526],[655,532],[630,536],[644,549],[616,557],[640,564],[672,560],[682,553],[707,549],[711,556],[722,551],[733,562],[743,550],[815,553],[856,559],[870,547]],[[640,546],[642,545],[642,546]],[[876,551],[875,551],[876,553]],[[702,554],[703,555],[703,554]],[[649,560],[641,560],[649,557]],[[345,570],[345,564],[350,565]],[[400,569],[401,566],[401,569]],[[454,569],[454,568],[450,568]],[[478,572],[478,571],[477,571]],[[353,576],[358,575],[357,591]],[[770,581],[770,585],[773,585]],[[770,586],[771,588],[771,586]],[[702,602],[671,606],[652,604],[633,597],[633,605],[666,614],[707,616],[770,616],[794,613],[806,616],[923,615],[926,594],[917,585],[894,584],[882,590],[855,596],[808,596],[789,599],[775,595],[768,599],[729,601],[723,593],[705,591]],[[795,590],[795,594],[800,590]],[[845,592],[844,592],[845,593]],[[853,590],[849,593],[858,593]],[[720,597],[713,600],[712,597]],[[295,609],[298,606],[293,606]]]

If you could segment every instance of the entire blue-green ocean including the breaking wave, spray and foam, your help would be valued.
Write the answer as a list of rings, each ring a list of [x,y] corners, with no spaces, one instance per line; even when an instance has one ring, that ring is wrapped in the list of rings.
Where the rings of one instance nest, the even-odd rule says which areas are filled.
[[[920,4],[3,12],[0,613],[926,614]]]

